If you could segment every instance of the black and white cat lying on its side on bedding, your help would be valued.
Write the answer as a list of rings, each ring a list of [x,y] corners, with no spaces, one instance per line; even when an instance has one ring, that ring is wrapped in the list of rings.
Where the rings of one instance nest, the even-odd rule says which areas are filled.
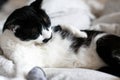
[[[40,0],[15,10],[0,36],[1,75],[26,80],[35,66],[99,69],[116,76],[120,67],[120,37],[73,27],[51,27]],[[0,76],[0,80],[8,78]],[[12,80],[12,78],[11,78]]]

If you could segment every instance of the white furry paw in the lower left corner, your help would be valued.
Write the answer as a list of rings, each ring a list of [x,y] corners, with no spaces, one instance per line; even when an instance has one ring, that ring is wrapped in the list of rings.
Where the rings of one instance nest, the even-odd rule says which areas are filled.
[[[0,75],[7,77],[15,76],[15,65],[3,55],[0,55]]]

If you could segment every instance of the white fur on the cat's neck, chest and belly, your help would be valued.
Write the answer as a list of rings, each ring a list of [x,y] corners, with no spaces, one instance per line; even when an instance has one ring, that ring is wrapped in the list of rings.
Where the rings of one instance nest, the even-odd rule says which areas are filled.
[[[88,48],[82,46],[79,53],[75,54],[70,48],[71,41],[63,40],[57,33],[53,34],[53,39],[48,43],[40,45],[36,45],[34,40],[20,41],[9,30],[5,30],[0,37],[0,47],[4,51],[3,56],[13,62],[9,66],[15,67],[13,74],[8,74],[8,76],[16,75],[16,78],[24,78],[35,66],[92,69],[104,66],[102,60],[95,53],[95,41],[93,42]],[[9,61],[6,61],[6,63],[9,63]],[[0,68],[4,69],[4,71],[8,70],[4,64]],[[16,78],[14,80],[18,80]]]

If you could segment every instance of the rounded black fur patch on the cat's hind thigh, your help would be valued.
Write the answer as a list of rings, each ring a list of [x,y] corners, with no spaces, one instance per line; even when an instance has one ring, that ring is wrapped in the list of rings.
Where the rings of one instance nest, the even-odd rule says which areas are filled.
[[[97,41],[96,51],[109,66],[120,67],[120,37],[106,35]]]

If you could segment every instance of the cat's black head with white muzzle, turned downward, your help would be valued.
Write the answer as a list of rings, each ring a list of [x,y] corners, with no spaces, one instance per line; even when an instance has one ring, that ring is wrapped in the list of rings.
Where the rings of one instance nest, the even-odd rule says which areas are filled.
[[[16,9],[6,20],[3,32],[10,30],[22,41],[36,40],[47,42],[51,36],[51,22],[44,10],[42,0],[36,0],[29,6]]]

